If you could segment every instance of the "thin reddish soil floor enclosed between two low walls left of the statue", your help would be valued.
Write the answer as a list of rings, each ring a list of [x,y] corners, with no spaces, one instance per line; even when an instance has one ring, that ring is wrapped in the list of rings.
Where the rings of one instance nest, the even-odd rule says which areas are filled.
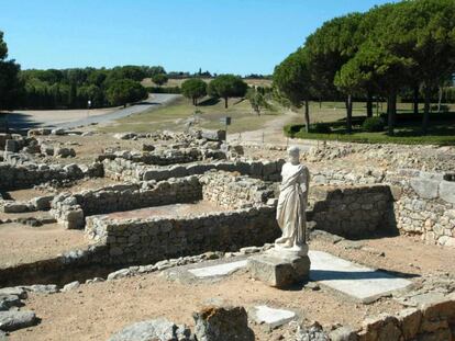
[[[108,216],[113,219],[131,219],[131,218],[168,218],[168,217],[185,217],[189,215],[198,215],[202,213],[213,213],[226,211],[221,206],[217,206],[210,202],[197,202],[192,204],[174,204],[147,207],[141,209],[133,209],[126,212],[115,212]]]

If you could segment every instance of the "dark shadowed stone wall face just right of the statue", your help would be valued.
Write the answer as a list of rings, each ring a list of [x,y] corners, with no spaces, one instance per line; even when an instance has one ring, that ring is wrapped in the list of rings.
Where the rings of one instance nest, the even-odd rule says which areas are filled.
[[[362,238],[395,227],[393,198],[388,185],[313,186],[308,219],[317,228],[347,238]]]

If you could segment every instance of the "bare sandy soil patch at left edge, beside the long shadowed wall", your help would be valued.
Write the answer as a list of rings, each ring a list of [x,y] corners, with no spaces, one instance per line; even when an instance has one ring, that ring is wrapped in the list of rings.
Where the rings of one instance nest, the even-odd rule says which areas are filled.
[[[0,268],[30,263],[85,248],[84,231],[67,230],[57,224],[26,227],[0,225]]]

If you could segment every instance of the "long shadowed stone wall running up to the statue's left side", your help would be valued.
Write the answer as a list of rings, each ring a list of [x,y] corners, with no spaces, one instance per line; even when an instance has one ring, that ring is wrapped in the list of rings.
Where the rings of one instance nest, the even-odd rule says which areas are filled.
[[[279,237],[275,207],[256,206],[200,216],[118,221],[87,218],[87,236],[108,248],[108,264],[151,263],[207,251],[236,251]]]

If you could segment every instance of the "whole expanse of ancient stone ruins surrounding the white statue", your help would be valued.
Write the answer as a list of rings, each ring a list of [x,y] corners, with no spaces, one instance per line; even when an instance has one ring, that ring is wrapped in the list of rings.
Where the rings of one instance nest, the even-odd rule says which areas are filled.
[[[404,147],[302,148],[300,160],[311,174],[306,218],[312,265],[304,281],[279,293],[252,282],[258,276],[252,268],[248,272],[247,261],[266,254],[281,234],[276,212],[286,146],[232,146],[218,133],[130,133],[103,137],[107,145],[87,154],[84,148],[95,138],[93,133],[45,128],[27,137],[0,135],[0,242],[11,248],[0,264],[1,331],[20,336],[40,322],[40,310],[27,309],[30,295],[70,296],[104,282],[152,279],[208,292],[213,283],[240,281],[236,293],[254,286],[266,298],[195,307],[192,328],[185,326],[190,314],[178,323],[154,315],[118,326],[110,340],[142,332],[168,340],[233,340],[232,331],[242,336],[238,340],[254,340],[255,333],[257,340],[268,340],[262,339],[267,333],[280,333],[277,340],[454,338],[453,273],[410,273],[409,263],[419,266],[418,254],[406,266],[396,265],[399,260],[386,254],[393,250],[367,245],[400,238],[418,243],[429,258],[454,255],[453,163],[431,168],[431,158],[417,158],[422,151]],[[401,158],[387,158],[391,148]],[[370,164],[353,168],[354,157]],[[421,167],[415,159],[428,163]],[[225,285],[229,293],[232,287]],[[333,302],[373,312],[360,322],[343,317],[340,321],[348,322],[328,328],[310,323],[298,305],[286,300],[304,305],[301,299],[319,293],[325,295],[318,308],[324,314],[336,310]],[[288,295],[293,298],[284,298]],[[228,296],[233,300],[235,295]],[[321,318],[332,321],[324,314]]]

